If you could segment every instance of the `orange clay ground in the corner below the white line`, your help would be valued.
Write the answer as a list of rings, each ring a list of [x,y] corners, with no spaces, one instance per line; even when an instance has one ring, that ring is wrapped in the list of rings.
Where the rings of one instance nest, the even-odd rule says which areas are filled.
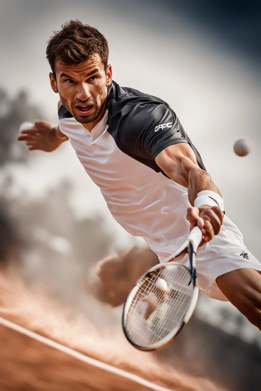
[[[1,391],[148,390],[4,326],[0,326],[0,345]]]

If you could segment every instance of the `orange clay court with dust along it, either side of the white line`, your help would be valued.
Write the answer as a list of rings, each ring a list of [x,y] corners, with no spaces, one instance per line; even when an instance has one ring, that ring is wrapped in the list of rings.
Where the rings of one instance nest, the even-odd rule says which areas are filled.
[[[12,288],[12,289],[11,289]],[[105,337],[81,317],[59,314],[50,302],[36,298],[17,281],[0,276],[0,316],[70,346],[101,362],[135,373],[176,391],[221,391],[209,380],[164,367],[150,353],[138,352],[120,332]],[[88,327],[87,327],[88,326]],[[119,329],[120,330],[120,329]],[[81,362],[63,352],[0,325],[0,391],[146,391],[137,384]]]

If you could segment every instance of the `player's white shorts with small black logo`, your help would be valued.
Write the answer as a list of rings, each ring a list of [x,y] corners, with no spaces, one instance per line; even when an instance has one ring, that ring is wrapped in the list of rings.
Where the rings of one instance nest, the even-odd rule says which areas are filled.
[[[188,263],[186,254],[182,263]],[[232,270],[250,267],[261,271],[260,262],[248,251],[238,227],[225,215],[218,235],[198,249],[196,269],[200,291],[212,299],[228,301],[216,278]]]

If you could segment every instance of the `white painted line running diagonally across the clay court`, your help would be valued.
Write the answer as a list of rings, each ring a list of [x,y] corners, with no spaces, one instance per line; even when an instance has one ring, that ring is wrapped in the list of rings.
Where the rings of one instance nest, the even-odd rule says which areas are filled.
[[[25,334],[28,337],[31,337],[32,339],[36,339],[36,341],[40,341],[41,343],[51,346],[54,349],[60,350],[63,353],[66,353],[77,360],[86,362],[87,364],[90,364],[92,366],[95,366],[97,368],[104,369],[104,371],[108,371],[111,373],[115,373],[115,375],[124,377],[126,379],[132,380],[133,382],[136,382],[138,384],[141,384],[142,386],[145,386],[151,390],[155,391],[175,391],[169,388],[157,386],[157,384],[153,384],[149,382],[148,380],[143,379],[142,377],[139,377],[137,375],[133,375],[132,373],[126,372],[123,369],[116,368],[112,365],[105,364],[104,362],[92,359],[91,357],[88,357],[82,353],[77,352],[76,350],[73,350],[71,348],[68,348],[67,346],[61,345],[55,341],[52,341],[49,338],[43,337],[40,334],[36,334],[33,331],[27,330],[26,328],[16,325],[16,323],[10,322],[9,320],[6,320],[2,317],[0,317],[0,324],[3,326],[6,326],[8,328],[11,328],[18,333]]]

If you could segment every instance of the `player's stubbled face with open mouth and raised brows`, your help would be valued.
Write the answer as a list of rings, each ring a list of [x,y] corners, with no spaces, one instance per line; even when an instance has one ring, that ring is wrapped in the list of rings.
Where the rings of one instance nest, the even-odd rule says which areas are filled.
[[[112,67],[104,64],[99,54],[76,65],[55,64],[56,79],[50,74],[54,92],[58,92],[65,108],[82,124],[98,122],[103,116],[107,86],[112,81]]]

